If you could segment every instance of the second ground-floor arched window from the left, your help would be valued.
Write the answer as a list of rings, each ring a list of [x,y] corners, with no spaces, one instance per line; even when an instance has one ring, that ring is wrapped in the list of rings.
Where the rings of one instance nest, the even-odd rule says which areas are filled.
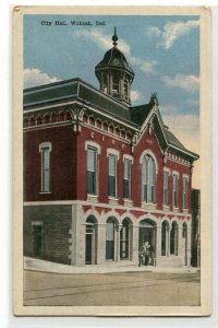
[[[106,260],[114,260],[114,218],[109,218],[106,225]]]

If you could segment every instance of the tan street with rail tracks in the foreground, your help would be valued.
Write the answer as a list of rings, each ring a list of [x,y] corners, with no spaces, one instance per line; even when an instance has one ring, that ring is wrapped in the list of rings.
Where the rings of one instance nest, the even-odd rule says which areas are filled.
[[[62,274],[24,270],[24,305],[199,305],[199,272]]]

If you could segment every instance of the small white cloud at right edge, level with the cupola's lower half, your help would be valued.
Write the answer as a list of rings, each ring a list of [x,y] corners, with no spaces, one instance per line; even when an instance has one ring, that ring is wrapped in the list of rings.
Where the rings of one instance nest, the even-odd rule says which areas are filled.
[[[180,87],[187,92],[197,91],[199,87],[199,77],[177,74],[174,78],[166,75],[162,81],[169,87]]]

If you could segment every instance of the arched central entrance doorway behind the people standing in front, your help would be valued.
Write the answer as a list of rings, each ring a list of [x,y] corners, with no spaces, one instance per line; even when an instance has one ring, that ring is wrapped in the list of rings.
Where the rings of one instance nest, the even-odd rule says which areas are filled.
[[[141,249],[145,243],[148,243],[152,265],[156,262],[156,223],[150,219],[145,219],[140,222],[138,249]]]

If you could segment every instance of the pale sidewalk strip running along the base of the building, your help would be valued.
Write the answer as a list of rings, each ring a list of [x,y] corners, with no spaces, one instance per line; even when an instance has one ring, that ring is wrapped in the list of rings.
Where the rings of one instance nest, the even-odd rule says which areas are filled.
[[[184,268],[166,268],[153,266],[131,266],[108,263],[106,266],[85,266],[73,267],[56,262],[49,262],[40,259],[24,257],[24,269],[41,272],[52,273],[112,273],[112,272],[130,272],[130,271],[147,271],[147,272],[169,272],[169,273],[195,273],[199,272],[199,268],[184,267]]]

